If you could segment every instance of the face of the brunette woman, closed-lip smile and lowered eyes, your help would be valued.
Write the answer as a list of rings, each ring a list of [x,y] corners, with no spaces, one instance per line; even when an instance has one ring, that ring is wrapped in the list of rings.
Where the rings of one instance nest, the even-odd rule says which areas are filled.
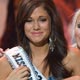
[[[24,25],[26,37],[33,44],[43,44],[48,41],[51,32],[51,20],[43,7],[37,7]]]

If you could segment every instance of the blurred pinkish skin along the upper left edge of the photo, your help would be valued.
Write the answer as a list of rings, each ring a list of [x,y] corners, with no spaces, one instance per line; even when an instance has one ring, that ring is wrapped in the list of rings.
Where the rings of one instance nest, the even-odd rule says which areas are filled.
[[[9,0],[0,0],[0,45],[6,28],[7,7]]]

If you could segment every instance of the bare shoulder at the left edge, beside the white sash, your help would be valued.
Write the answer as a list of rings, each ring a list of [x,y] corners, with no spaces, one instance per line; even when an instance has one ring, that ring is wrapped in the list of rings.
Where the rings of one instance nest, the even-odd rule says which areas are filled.
[[[0,80],[4,80],[9,73],[12,71],[12,68],[5,56],[0,58]]]

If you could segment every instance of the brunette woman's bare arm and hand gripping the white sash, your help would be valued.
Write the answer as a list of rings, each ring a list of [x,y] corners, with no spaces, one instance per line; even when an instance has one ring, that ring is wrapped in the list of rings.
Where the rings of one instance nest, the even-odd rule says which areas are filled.
[[[29,75],[28,67],[20,66],[13,70],[5,56],[0,58],[0,80],[28,80]]]

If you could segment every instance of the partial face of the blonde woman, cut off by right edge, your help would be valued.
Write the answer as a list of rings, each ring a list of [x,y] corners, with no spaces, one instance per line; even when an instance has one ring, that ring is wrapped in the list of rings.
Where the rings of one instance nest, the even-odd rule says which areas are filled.
[[[76,22],[75,38],[76,38],[77,46],[80,48],[80,15],[78,16]]]

